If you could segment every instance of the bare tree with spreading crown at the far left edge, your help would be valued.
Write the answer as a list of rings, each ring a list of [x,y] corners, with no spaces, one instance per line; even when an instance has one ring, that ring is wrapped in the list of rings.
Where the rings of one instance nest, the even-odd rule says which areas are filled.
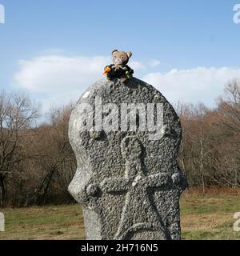
[[[6,178],[25,156],[20,153],[25,130],[33,125],[38,110],[23,94],[0,92],[0,205],[6,203]]]

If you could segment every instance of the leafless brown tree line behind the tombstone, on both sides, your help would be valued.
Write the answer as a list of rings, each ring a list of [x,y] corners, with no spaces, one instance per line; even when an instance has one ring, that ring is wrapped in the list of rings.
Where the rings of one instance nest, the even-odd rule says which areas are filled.
[[[216,106],[180,103],[178,162],[190,187],[240,187],[240,82],[228,82]],[[41,122],[26,95],[0,92],[0,206],[74,202],[67,191],[76,170],[68,140],[73,105],[51,109]]]

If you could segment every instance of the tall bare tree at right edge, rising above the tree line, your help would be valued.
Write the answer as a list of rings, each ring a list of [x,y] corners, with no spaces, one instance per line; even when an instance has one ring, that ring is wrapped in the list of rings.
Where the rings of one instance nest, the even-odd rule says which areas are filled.
[[[225,142],[224,172],[220,178],[230,186],[240,186],[240,79],[234,78],[218,98],[218,129]]]

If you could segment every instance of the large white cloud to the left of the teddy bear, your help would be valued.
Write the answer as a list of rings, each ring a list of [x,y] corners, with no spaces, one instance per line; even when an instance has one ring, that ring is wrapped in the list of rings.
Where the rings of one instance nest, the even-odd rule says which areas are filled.
[[[77,100],[84,90],[102,78],[110,58],[46,55],[19,62],[14,86],[39,98],[47,110],[51,105]]]

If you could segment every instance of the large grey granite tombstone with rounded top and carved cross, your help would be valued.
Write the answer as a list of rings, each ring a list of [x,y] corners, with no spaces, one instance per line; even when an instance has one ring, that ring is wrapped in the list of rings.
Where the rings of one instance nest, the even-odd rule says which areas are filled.
[[[181,134],[170,103],[137,78],[86,90],[70,117],[78,169],[69,190],[87,239],[180,239]]]

